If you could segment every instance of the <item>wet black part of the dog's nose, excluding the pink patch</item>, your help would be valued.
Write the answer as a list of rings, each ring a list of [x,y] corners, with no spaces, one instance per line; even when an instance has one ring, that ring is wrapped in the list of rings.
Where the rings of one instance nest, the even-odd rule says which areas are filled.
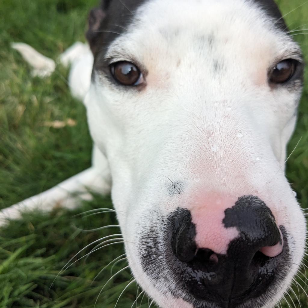
[[[240,197],[225,210],[222,222],[225,228],[239,231],[226,254],[197,247],[196,228],[186,209],[177,210],[171,218],[171,245],[189,293],[198,300],[232,308],[270,287],[283,253],[272,257],[268,252],[282,249],[283,242],[271,210],[258,197]]]

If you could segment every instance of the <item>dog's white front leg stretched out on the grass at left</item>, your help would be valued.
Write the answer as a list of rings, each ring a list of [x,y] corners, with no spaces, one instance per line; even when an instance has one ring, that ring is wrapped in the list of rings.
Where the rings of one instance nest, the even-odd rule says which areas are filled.
[[[61,182],[43,193],[25,199],[0,211],[0,226],[7,219],[17,219],[24,211],[39,209],[50,211],[55,206],[74,208],[80,200],[91,200],[91,192],[107,194],[110,192],[111,178],[107,159],[93,147],[92,167]]]

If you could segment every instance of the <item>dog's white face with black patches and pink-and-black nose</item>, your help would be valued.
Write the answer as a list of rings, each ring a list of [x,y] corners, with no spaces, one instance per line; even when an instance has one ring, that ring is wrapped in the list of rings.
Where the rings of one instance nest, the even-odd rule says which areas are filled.
[[[274,306],[305,238],[284,175],[302,56],[274,2],[112,0],[89,24],[88,122],[137,282],[160,307]]]

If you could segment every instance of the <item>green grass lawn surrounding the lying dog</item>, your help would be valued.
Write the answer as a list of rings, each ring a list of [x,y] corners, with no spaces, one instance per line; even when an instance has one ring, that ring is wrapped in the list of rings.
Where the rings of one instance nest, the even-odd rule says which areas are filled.
[[[278,1],[283,13],[303,2]],[[55,58],[76,40],[84,40],[87,13],[96,4],[96,0],[0,2],[0,209],[40,193],[90,166],[91,138],[85,110],[69,93],[68,70],[58,66],[47,79],[33,78],[30,68],[10,48],[10,43],[29,43]],[[286,20],[291,29],[306,24],[308,3],[288,14]],[[295,38],[307,59],[307,36]],[[308,208],[307,103],[306,86],[289,152],[302,139],[287,165],[287,176],[304,208]],[[43,125],[46,121],[69,118],[76,121],[75,126],[55,129]],[[105,247],[87,260],[85,257],[77,261],[57,278],[56,275],[80,249],[100,237],[118,233],[116,228],[82,231],[116,224],[113,213],[75,217],[98,207],[112,207],[110,198],[95,196],[93,202],[84,203],[74,211],[58,208],[50,214],[27,214],[0,230],[0,308],[94,306],[99,291],[112,276],[111,266],[95,282],[92,280],[105,265],[124,253],[122,244]],[[85,256],[91,248],[82,251],[79,257]],[[126,265],[125,260],[117,263],[113,273]],[[304,272],[301,278],[306,279]],[[130,279],[129,270],[119,274],[100,295],[97,307],[113,308]],[[306,288],[300,279],[298,282]],[[128,288],[117,307],[130,308],[136,292],[136,286]],[[297,287],[294,292],[300,294],[301,306],[308,308],[305,294],[298,292]],[[290,296],[291,307],[299,306],[292,292]],[[142,307],[148,307],[147,298]],[[283,303],[283,307],[288,305]]]

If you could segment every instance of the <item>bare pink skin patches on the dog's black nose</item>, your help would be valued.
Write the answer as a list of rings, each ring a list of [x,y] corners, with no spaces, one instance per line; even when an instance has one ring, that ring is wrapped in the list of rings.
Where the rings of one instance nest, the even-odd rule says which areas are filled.
[[[226,228],[223,225],[225,209],[231,208],[237,198],[208,197],[202,206],[193,207],[191,211],[192,222],[196,226],[196,244],[198,248],[208,248],[214,253],[226,254],[229,243],[239,237],[236,227]],[[200,204],[197,202],[197,204]],[[281,234],[282,238],[282,234]],[[282,252],[283,243],[267,246],[260,251],[268,257],[276,257]]]

